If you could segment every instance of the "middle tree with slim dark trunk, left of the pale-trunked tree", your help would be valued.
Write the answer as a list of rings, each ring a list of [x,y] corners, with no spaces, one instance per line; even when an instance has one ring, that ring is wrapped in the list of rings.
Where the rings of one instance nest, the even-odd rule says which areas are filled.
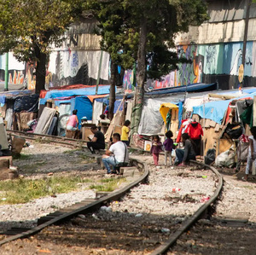
[[[118,65],[131,68],[135,62],[134,52],[129,43],[127,20],[129,10],[124,9],[123,0],[87,0],[84,9],[96,17],[98,29],[96,33],[102,36],[102,50],[108,52],[111,58],[111,78],[109,93],[109,119],[113,119],[115,101],[115,85]]]

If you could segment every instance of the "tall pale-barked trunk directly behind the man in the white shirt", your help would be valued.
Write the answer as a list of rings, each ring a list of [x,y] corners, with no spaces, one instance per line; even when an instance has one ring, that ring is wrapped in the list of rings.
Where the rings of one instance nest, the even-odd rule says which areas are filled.
[[[137,88],[135,92],[135,106],[131,114],[131,143],[133,135],[137,133],[143,111],[144,82],[146,77],[146,43],[147,43],[147,20],[141,19],[140,40],[137,52]]]

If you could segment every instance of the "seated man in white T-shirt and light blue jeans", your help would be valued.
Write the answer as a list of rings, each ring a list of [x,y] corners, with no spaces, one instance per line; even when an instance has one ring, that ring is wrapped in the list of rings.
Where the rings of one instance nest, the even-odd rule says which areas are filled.
[[[110,174],[110,165],[113,165],[113,173],[115,173],[115,167],[120,163],[128,163],[129,154],[126,144],[121,142],[119,133],[113,134],[113,144],[106,151],[106,154],[102,156],[102,162],[107,169],[107,173]]]

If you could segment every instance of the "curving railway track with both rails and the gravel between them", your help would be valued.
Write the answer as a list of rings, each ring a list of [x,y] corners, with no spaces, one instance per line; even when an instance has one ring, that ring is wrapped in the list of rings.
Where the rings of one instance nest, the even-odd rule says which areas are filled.
[[[11,133],[17,135],[17,133],[15,133],[14,131],[11,131]],[[26,136],[26,134],[24,133],[22,134],[22,136]],[[44,136],[41,136],[41,137],[44,137]],[[55,139],[54,136],[53,137],[47,136],[47,137],[49,140],[52,140],[55,142],[57,142],[57,139],[59,139],[59,138]],[[38,137],[34,135],[33,138],[37,139]],[[75,143],[75,141],[72,141],[72,142]],[[142,159],[138,159],[138,158],[140,157],[135,157],[134,159],[131,160],[131,162],[133,165],[136,165],[137,168],[139,168],[142,175],[138,177],[137,180],[134,181],[133,183],[130,183],[129,185],[125,186],[125,188],[121,188],[117,191],[114,191],[113,193],[108,194],[107,196],[104,196],[100,199],[84,200],[76,205],[69,206],[68,208],[63,209],[60,212],[54,212],[49,214],[46,217],[38,219],[39,224],[36,228],[28,229],[28,230],[24,229],[26,231],[23,231],[22,233],[19,233],[16,235],[9,236],[3,241],[0,241],[0,245],[6,244],[10,241],[14,241],[16,239],[26,238],[26,237],[35,235],[43,229],[49,229],[45,231],[55,233],[55,231],[60,231],[59,229],[60,227],[55,225],[60,225],[60,224],[65,225],[64,229],[67,229],[67,232],[69,234],[71,232],[77,232],[77,231],[82,233],[84,230],[81,230],[80,227],[78,227],[79,230],[73,229],[74,227],[71,228],[69,223],[71,223],[72,226],[76,224],[80,226],[80,224],[83,223],[85,229],[87,226],[88,229],[90,229],[90,231],[94,231],[94,230],[97,231],[97,229],[101,229],[101,228],[104,229],[106,227],[107,230],[106,231],[104,230],[104,233],[106,232],[105,235],[111,238],[111,231],[114,232],[115,235],[119,235],[120,241],[123,242],[122,246],[124,246],[124,239],[121,238],[122,231],[127,232],[124,234],[127,238],[126,247],[129,246],[129,248],[127,248],[125,251],[124,251],[124,248],[120,248],[120,250],[122,250],[123,253],[119,252],[119,253],[113,253],[113,254],[128,254],[128,253],[133,254],[131,252],[133,250],[132,238],[135,235],[136,235],[135,239],[142,243],[141,245],[142,248],[137,250],[138,252],[135,252],[134,254],[149,254],[149,253],[164,254],[168,252],[170,247],[177,241],[177,239],[185,231],[191,228],[191,226],[194,225],[201,217],[206,217],[207,214],[212,212],[212,207],[216,203],[216,200],[218,200],[218,195],[220,194],[221,188],[223,186],[223,179],[221,175],[218,173],[218,171],[212,168],[211,166],[203,165],[198,162],[193,162],[193,165],[197,165],[197,166],[191,166],[191,169],[188,172],[183,172],[183,170],[175,171],[175,169],[170,168],[169,169],[170,174],[168,174],[168,171],[166,171],[166,178],[170,178],[170,180],[172,180],[172,177],[175,177],[175,180],[173,181],[174,183],[175,182],[178,183],[180,180],[187,181],[187,183],[189,183],[190,180],[192,180],[191,185],[194,185],[193,183],[197,183],[197,182],[198,183],[204,182],[204,179],[202,177],[207,176],[208,179],[211,178],[212,186],[210,188],[211,190],[209,191],[211,193],[211,196],[209,196],[207,200],[203,200],[200,202],[198,201],[199,197],[197,196],[200,196],[200,193],[195,194],[196,188],[193,188],[195,189],[195,191],[191,190],[190,188],[190,191],[192,192],[191,195],[187,195],[187,194],[183,195],[182,191],[178,192],[178,191],[172,190],[174,188],[173,185],[176,185],[176,186],[178,185],[177,183],[172,185],[172,181],[170,181],[171,183],[169,185],[170,192],[166,191],[168,188],[168,183],[167,184],[163,183],[162,185],[163,186],[162,192],[166,193],[166,196],[164,198],[161,197],[160,192],[159,193],[155,192],[155,197],[154,197],[154,185],[152,184],[152,187],[151,187],[151,183],[150,183],[151,177],[149,177],[149,183],[137,186],[138,183],[146,182],[146,180],[148,179],[148,173],[149,173],[148,163],[146,162],[146,160],[142,161]],[[161,174],[163,174],[164,170],[162,171],[159,170],[157,172],[154,169],[154,167],[149,166],[149,168],[151,168],[152,178],[157,178],[158,176],[162,177]],[[207,170],[202,170],[202,168],[205,168]],[[146,210],[145,212],[143,212],[144,210],[143,206],[145,205],[141,200],[139,200],[138,203],[136,202],[137,197],[134,197],[137,195],[136,193],[140,195],[141,197],[140,199],[143,199],[145,201],[145,205],[147,207],[147,210],[149,211]],[[135,205],[135,206],[131,206],[131,200],[134,200],[132,202],[133,203],[132,205]],[[154,204],[155,200],[158,201],[156,204]],[[167,214],[161,215],[161,212],[154,212],[155,205],[160,207],[162,206],[161,208],[164,208],[165,205],[166,205],[166,208],[171,205],[172,210],[174,210],[175,206],[183,206],[183,204],[187,204],[189,207],[191,208],[193,207],[193,208],[191,210],[188,209],[190,211],[188,212],[187,215],[183,215],[182,218],[178,216],[178,213],[175,216],[173,215],[167,216]],[[108,214],[107,212],[102,212],[102,210],[99,210],[102,206],[108,206],[112,208],[111,211],[113,212],[113,214],[110,216],[110,214]],[[131,208],[131,207],[134,207],[134,208]],[[165,211],[165,210],[166,209],[164,210],[162,209],[162,211]],[[139,213],[139,212],[142,212],[142,213]],[[151,213],[148,213],[148,212],[151,212]],[[172,213],[173,211],[169,212],[169,214],[172,214]],[[86,216],[84,219],[83,218],[81,219],[78,217],[79,215],[85,215],[85,216],[89,215],[89,217]],[[170,222],[169,224],[168,224],[168,220],[166,221],[165,218],[169,220]],[[155,222],[155,223],[150,223],[150,220],[152,220],[152,222]],[[125,223],[131,226],[131,231],[129,231],[129,227],[128,229],[125,227]],[[133,223],[134,225],[132,225]],[[138,226],[138,228],[136,225]],[[162,226],[162,228],[160,226]],[[138,229],[140,228],[142,230],[138,231]],[[39,234],[41,239],[45,231],[43,232],[41,231],[41,233]],[[108,235],[108,231],[110,231],[109,235]],[[14,229],[14,233],[15,233],[15,229]],[[65,235],[65,233],[63,235]],[[87,234],[85,235],[83,233],[81,235],[85,236],[83,243],[86,244],[85,239],[86,237],[88,237],[88,235]],[[153,240],[152,238],[150,239],[151,235],[154,236]],[[52,234],[52,236],[56,236],[56,235]],[[159,239],[157,239],[156,236]],[[97,238],[99,238],[98,239],[99,241],[101,239],[101,235],[97,235]],[[93,243],[93,241],[91,241],[91,243]],[[113,247],[111,249],[113,249]],[[135,251],[136,251],[136,248],[135,248]]]

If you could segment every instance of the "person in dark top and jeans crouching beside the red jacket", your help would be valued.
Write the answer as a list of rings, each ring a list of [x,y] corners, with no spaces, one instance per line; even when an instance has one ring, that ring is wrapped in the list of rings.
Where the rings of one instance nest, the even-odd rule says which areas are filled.
[[[189,134],[183,133],[181,142],[184,144],[184,149],[176,149],[176,159],[174,165],[183,166],[189,163],[189,159],[195,159],[195,148],[190,140]]]

